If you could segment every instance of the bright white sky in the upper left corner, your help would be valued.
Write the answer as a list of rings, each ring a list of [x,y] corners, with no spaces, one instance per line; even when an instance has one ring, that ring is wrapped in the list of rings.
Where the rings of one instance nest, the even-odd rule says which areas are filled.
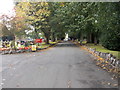
[[[0,16],[1,15],[8,15],[13,16],[14,15],[14,3],[13,0],[0,0]]]

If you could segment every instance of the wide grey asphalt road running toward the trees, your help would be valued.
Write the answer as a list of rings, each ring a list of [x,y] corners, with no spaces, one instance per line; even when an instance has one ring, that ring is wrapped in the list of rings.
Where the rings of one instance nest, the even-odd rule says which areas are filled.
[[[48,50],[2,55],[3,88],[113,88],[117,80],[71,42]]]

